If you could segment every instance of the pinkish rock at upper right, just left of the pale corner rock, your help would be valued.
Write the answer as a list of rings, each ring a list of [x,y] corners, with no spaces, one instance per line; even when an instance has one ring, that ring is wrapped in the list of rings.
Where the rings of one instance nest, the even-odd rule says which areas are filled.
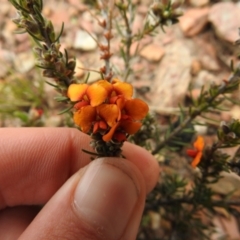
[[[200,33],[208,22],[209,8],[190,9],[180,17],[180,28],[187,37]]]

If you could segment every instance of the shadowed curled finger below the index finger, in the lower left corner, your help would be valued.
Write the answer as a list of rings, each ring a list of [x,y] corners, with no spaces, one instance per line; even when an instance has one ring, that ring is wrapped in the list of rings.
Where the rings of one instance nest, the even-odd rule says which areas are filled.
[[[39,212],[39,207],[21,206],[0,211],[1,240],[16,240]]]

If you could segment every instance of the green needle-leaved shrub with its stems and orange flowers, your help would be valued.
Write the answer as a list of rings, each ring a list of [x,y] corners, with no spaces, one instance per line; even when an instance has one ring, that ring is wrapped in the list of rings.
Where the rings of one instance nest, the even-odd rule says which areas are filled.
[[[181,1],[154,1],[149,7],[141,31],[135,34],[132,31],[135,4],[131,0],[110,1],[109,4],[93,1],[91,7],[99,8],[101,12],[101,20],[97,16],[94,17],[103,28],[105,42],[98,42],[104,66],[95,70],[101,80],[92,85],[87,83],[88,76],[84,82],[75,78],[75,59],[69,58],[67,50],[60,51],[64,25],[60,33],[56,34],[51,21],[44,18],[41,13],[43,2],[41,0],[9,1],[18,11],[14,23],[18,26],[19,32],[27,32],[36,42],[37,47],[34,48],[34,52],[37,66],[43,69],[44,77],[54,80],[47,83],[59,93],[56,100],[66,105],[66,109],[61,113],[68,112],[73,116],[76,125],[83,132],[91,135],[94,152],[88,153],[92,156],[121,156],[123,142],[129,135],[135,133],[129,140],[147,148],[156,157],[166,158],[172,154],[173,149],[177,151],[179,157],[182,149],[189,146],[195,137],[194,125],[200,124],[197,121],[198,117],[207,119],[207,115],[212,111],[222,111],[224,103],[231,101],[228,94],[238,90],[240,69],[239,66],[233,67],[232,64],[232,75],[228,80],[223,80],[220,85],[203,87],[196,99],[190,94],[190,106],[187,108],[180,106],[177,120],[170,121],[167,130],[162,130],[154,115],[146,115],[146,104],[141,100],[132,99],[131,84],[114,78],[116,73],[113,70],[114,66],[111,65],[111,57],[117,53],[111,52],[111,40],[114,37],[113,30],[116,29],[121,37],[119,54],[124,61],[124,71],[118,76],[124,81],[129,81],[131,74],[134,74],[131,61],[139,50],[137,48],[132,55],[130,53],[132,44],[139,42],[146,35],[156,34],[158,30],[164,30],[164,27],[176,23],[181,13],[179,10]],[[113,20],[114,11],[120,16],[117,22]],[[20,91],[20,94],[22,93]],[[31,96],[29,101],[36,102]],[[111,109],[110,103],[114,105],[113,107],[111,105]],[[139,107],[140,110],[135,111],[131,104]],[[75,110],[72,113],[73,109]],[[110,118],[109,115],[113,117]],[[19,117],[24,119],[24,116]],[[233,192],[230,191],[219,198],[218,192],[212,188],[212,184],[217,184],[222,179],[223,172],[236,171],[240,168],[236,157],[231,159],[229,155],[220,151],[222,148],[239,144],[239,120],[223,122],[219,124],[217,140],[211,147],[204,148],[204,140],[200,145],[197,140],[193,144],[194,148],[189,149],[188,154],[185,154],[185,160],[187,155],[193,158],[192,173],[193,168],[198,166],[197,174],[187,178],[178,173],[169,174],[163,171],[161,181],[147,198],[139,239],[209,239],[213,228],[209,227],[208,223],[204,223],[202,215],[210,219],[217,212],[217,208],[239,215],[236,206],[240,205],[240,201],[231,199]],[[178,157],[171,156],[174,161],[177,161]],[[188,164],[190,160],[185,162]],[[152,213],[161,215],[162,222],[168,222],[170,226],[170,231],[164,232],[163,236],[159,236],[150,226]]]

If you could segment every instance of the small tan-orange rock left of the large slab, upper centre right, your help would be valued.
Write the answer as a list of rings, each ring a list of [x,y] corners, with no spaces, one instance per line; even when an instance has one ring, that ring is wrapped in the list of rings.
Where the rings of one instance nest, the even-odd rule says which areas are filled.
[[[150,44],[142,49],[140,56],[151,62],[159,62],[164,56],[164,50],[157,44]]]

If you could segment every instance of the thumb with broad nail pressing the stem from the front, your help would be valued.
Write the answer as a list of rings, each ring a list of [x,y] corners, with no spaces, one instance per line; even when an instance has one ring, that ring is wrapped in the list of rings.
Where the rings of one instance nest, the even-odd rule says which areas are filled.
[[[58,190],[19,239],[136,239],[145,185],[130,161],[97,159]]]

